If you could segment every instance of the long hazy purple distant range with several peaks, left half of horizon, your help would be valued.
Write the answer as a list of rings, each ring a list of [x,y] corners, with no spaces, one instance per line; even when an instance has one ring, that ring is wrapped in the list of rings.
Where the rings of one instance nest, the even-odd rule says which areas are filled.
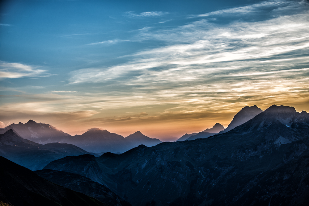
[[[71,136],[61,130],[57,130],[53,126],[43,123],[36,123],[32,120],[29,120],[25,124],[21,122],[18,124],[11,124],[6,128],[1,129],[0,134],[4,134],[10,129],[20,137],[36,143],[68,143],[93,153],[122,153],[140,144],[154,146],[161,143],[159,139],[149,138],[143,135],[140,131],[124,138],[119,134],[111,133],[107,130],[92,128],[82,135]]]

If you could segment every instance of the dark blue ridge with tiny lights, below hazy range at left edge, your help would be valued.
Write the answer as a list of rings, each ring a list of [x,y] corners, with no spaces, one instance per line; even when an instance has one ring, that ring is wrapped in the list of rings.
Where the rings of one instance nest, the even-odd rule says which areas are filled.
[[[75,145],[39,144],[19,137],[13,130],[0,134],[0,155],[30,170],[40,170],[53,160],[70,155],[93,154]]]

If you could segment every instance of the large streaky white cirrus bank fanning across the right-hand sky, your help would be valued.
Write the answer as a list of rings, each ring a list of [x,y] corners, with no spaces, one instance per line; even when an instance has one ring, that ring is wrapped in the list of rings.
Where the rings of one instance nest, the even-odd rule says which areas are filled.
[[[304,8],[307,2],[271,1],[205,15],[237,11],[250,16],[248,21],[218,24],[200,16],[173,29],[140,31],[137,39],[167,46],[126,56],[131,60],[109,68],[73,71],[70,85],[115,88],[115,99],[105,96],[113,102],[104,103],[110,108],[126,107],[136,96],[142,97],[134,103],[139,106],[177,105],[164,113],[233,108],[239,102],[272,104],[299,94],[308,99],[309,15]],[[271,17],[261,21],[261,14]]]

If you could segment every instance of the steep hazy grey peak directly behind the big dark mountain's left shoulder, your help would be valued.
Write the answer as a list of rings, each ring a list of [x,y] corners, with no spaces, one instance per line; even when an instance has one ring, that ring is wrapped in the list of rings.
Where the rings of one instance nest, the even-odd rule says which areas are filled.
[[[237,114],[235,114],[232,122],[228,125],[228,127],[225,128],[225,130],[221,131],[220,134],[228,132],[237,126],[242,125],[243,123],[252,119],[261,112],[263,112],[263,110],[258,108],[256,105],[253,105],[251,107],[243,107]]]

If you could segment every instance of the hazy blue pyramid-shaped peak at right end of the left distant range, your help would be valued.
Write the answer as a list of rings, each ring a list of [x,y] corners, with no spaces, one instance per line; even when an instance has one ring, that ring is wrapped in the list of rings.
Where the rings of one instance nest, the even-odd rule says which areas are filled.
[[[130,134],[125,139],[129,140],[129,142],[131,142],[131,144],[134,147],[137,147],[138,145],[145,145],[145,146],[151,147],[151,146],[155,146],[157,144],[162,143],[161,140],[159,139],[150,138],[150,137],[145,136],[144,134],[141,133],[141,131],[137,131],[133,134]]]

